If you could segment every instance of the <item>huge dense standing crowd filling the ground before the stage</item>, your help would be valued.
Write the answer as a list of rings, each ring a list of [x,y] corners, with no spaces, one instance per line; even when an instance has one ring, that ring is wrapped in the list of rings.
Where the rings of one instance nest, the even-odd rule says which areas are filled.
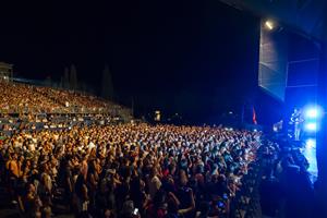
[[[21,130],[0,137],[1,182],[24,217],[223,217],[259,146],[209,126]]]

